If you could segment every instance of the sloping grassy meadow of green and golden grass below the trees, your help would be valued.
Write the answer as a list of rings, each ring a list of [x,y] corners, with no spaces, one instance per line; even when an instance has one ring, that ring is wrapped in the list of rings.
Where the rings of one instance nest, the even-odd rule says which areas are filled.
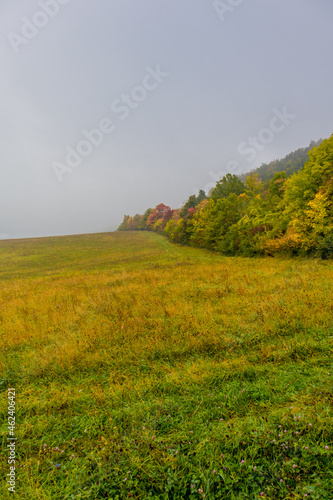
[[[332,279],[146,232],[0,242],[0,498],[333,499]]]

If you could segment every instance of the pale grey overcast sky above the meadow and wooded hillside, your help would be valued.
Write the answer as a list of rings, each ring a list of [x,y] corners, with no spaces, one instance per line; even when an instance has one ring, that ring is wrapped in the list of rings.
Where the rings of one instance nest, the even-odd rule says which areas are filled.
[[[0,238],[114,230],[329,137],[332,21],[332,0],[1,0]]]

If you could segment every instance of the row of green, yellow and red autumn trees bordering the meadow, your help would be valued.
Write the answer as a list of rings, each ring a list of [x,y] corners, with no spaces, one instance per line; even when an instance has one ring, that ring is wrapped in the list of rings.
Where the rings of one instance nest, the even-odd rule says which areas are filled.
[[[275,169],[271,162],[247,176],[227,174],[180,209],[160,203],[126,215],[118,230],[156,231],[226,255],[332,257],[333,135],[304,149]]]

